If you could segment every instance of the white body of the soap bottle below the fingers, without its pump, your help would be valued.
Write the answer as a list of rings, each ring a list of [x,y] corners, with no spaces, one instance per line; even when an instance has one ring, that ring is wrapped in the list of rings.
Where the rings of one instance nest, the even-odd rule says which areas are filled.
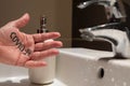
[[[43,59],[48,63],[46,67],[30,68],[29,80],[34,84],[52,84],[55,77],[55,57]]]

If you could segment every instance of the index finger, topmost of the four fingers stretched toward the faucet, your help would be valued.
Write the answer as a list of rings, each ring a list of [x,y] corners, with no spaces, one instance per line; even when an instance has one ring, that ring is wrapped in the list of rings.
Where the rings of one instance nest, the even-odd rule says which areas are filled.
[[[37,33],[32,34],[35,42],[43,42],[44,40],[48,39],[56,39],[60,38],[61,34],[60,32],[48,32],[48,33]]]

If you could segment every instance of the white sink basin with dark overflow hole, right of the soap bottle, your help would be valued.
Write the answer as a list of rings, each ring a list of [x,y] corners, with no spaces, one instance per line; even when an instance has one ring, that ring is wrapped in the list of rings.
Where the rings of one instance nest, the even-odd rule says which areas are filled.
[[[114,59],[113,55],[88,48],[62,48],[56,77],[67,86],[130,86],[130,59]]]

